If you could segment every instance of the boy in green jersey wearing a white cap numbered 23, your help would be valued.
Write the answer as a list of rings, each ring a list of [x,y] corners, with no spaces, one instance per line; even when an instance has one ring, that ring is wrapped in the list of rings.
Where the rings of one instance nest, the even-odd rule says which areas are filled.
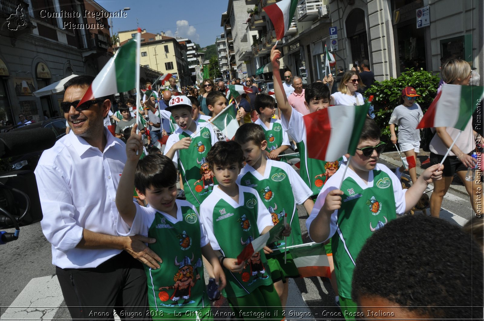
[[[174,117],[178,129],[168,137],[165,155],[178,165],[186,200],[198,207],[215,184],[206,157],[217,142],[216,136],[212,126],[201,128],[193,121],[188,97],[171,98],[166,110]]]

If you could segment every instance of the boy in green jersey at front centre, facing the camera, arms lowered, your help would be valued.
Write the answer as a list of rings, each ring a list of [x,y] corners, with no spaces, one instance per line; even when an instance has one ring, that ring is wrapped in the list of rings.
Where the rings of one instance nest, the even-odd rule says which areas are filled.
[[[223,294],[237,319],[256,315],[283,319],[264,251],[254,253],[247,263],[238,264],[236,259],[247,244],[274,226],[257,191],[236,183],[243,161],[241,146],[235,141],[218,142],[207,160],[219,185],[200,206],[200,218],[213,248],[220,251],[227,275]],[[289,236],[290,231],[286,224],[283,235]]]

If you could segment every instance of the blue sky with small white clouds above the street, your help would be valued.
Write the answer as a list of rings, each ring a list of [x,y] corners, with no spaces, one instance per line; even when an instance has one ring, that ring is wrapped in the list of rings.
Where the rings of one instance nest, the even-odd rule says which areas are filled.
[[[125,7],[126,18],[113,18],[115,33],[123,30],[146,29],[147,32],[167,36],[189,38],[202,47],[215,44],[215,39],[224,32],[220,27],[222,14],[227,11],[228,0],[97,0],[108,12]],[[137,20],[136,20],[137,18]]]

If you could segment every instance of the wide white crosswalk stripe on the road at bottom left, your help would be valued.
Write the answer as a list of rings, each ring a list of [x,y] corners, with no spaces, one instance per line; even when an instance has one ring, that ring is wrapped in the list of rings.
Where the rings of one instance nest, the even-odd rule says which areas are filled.
[[[2,320],[52,319],[64,301],[57,277],[32,278],[2,314]]]

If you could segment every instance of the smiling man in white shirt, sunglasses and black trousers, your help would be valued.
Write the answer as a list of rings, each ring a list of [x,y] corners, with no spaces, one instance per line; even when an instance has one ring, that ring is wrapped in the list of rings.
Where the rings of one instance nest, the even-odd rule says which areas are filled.
[[[35,169],[42,232],[52,244],[52,263],[74,320],[112,320],[113,309],[148,320],[146,276],[135,258],[152,268],[161,259],[143,243],[154,239],[115,232],[126,147],[104,127],[108,99],[77,106],[93,79],[77,76],[64,85],[61,107],[71,132],[44,151]]]

